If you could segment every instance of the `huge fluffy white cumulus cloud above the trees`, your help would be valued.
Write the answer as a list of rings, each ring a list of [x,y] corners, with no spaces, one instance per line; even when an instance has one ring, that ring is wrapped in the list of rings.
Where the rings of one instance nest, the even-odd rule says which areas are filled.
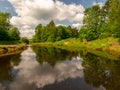
[[[55,21],[67,20],[70,23],[81,24],[84,16],[84,7],[82,5],[67,5],[59,0],[8,1],[13,5],[17,13],[17,16],[11,18],[11,23],[20,29],[22,36],[32,36],[36,25],[39,23],[47,24],[51,19]]]

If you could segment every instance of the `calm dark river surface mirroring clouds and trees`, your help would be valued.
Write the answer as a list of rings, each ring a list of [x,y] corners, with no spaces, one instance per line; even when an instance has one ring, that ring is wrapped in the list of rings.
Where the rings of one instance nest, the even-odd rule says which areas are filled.
[[[54,47],[0,57],[0,90],[119,90],[120,61]]]

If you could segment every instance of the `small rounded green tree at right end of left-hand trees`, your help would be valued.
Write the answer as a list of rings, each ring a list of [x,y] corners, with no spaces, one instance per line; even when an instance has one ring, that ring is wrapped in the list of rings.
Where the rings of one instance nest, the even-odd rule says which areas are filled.
[[[20,32],[18,28],[16,27],[11,28],[9,31],[9,36],[11,40],[20,40]]]

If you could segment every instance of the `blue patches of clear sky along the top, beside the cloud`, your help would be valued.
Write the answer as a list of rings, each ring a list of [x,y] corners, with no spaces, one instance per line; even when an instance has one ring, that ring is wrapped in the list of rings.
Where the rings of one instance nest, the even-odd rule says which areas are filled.
[[[62,2],[66,4],[81,4],[85,8],[92,6],[93,2],[96,2],[96,0],[61,0]],[[97,0],[98,2],[105,3],[106,0]],[[0,0],[0,11],[2,12],[10,12],[12,15],[16,15],[16,12],[11,5],[11,3],[8,0]]]

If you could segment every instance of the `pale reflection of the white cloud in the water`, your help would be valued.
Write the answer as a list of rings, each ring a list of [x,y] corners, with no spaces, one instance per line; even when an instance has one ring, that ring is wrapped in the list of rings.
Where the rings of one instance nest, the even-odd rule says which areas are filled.
[[[19,72],[15,75],[15,80],[10,83],[10,90],[31,90],[55,82],[62,82],[69,78],[82,78],[84,76],[80,58],[57,62],[52,67],[47,62],[40,65],[35,57],[35,53],[30,48],[21,54],[20,64],[13,68],[13,71],[18,70]]]

